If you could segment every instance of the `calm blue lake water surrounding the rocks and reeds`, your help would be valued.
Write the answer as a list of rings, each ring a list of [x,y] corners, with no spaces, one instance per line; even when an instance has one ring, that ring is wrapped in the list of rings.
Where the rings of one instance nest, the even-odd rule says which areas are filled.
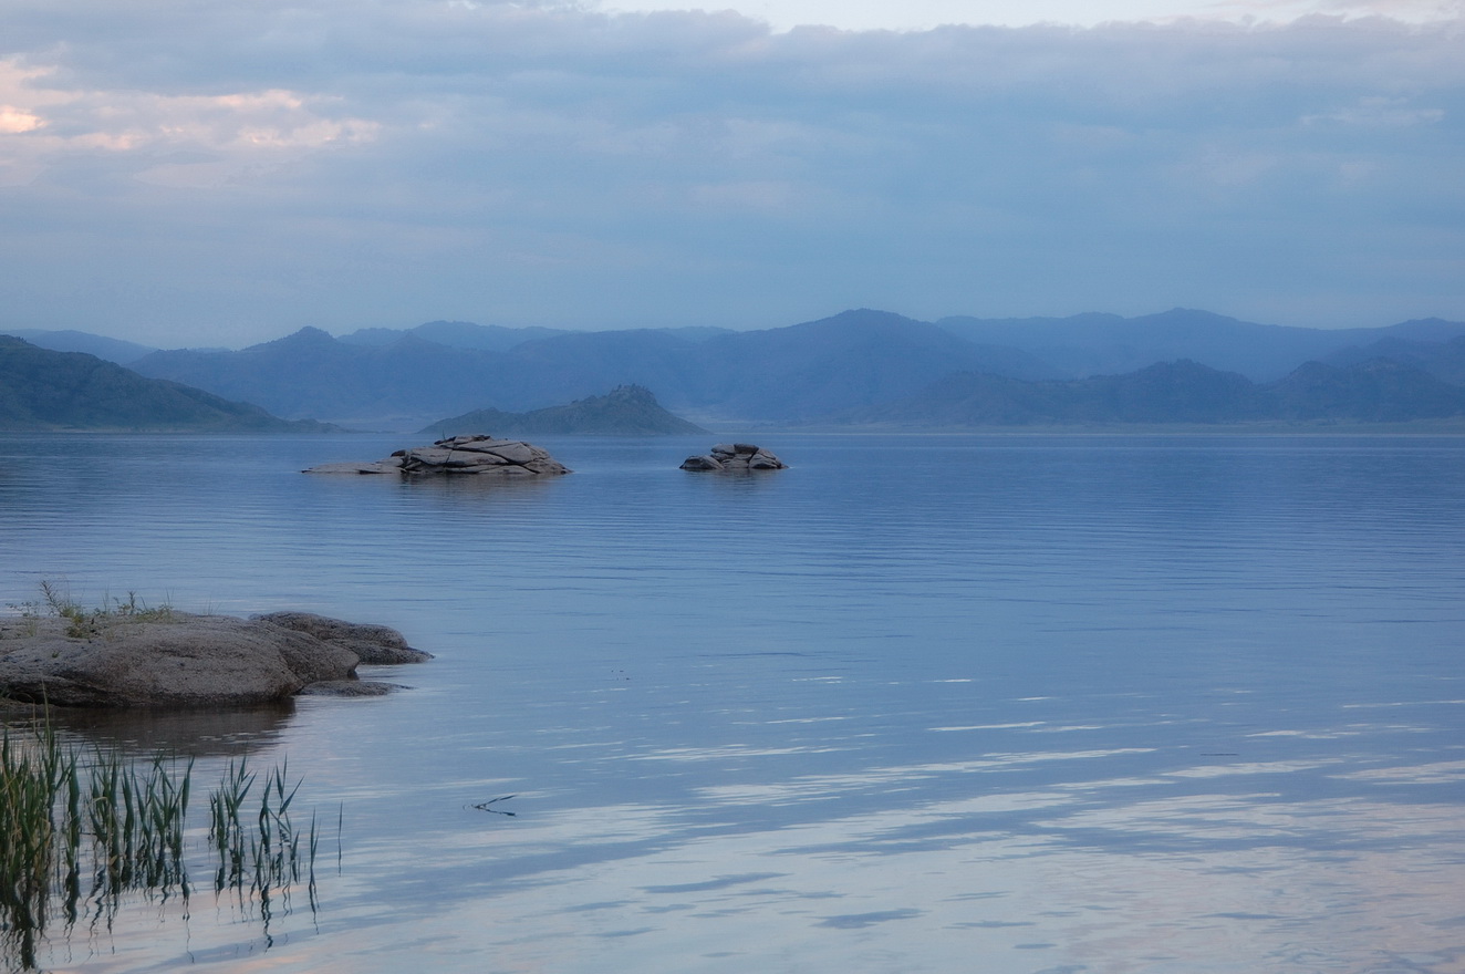
[[[287,757],[330,861],[315,911],[139,899],[53,970],[1465,971],[1465,438],[299,473],[418,439],[0,436],[3,602],[438,655],[384,699],[86,731],[204,782]]]

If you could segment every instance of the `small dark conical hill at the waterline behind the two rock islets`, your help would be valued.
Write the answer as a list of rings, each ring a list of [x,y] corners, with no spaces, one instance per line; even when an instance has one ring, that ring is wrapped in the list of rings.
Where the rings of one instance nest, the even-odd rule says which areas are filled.
[[[705,434],[706,429],[662,409],[650,390],[621,385],[607,395],[592,395],[568,406],[549,406],[529,413],[504,413],[479,409],[431,423],[419,432],[456,436],[491,434],[494,436],[595,435],[595,436],[670,436]]]

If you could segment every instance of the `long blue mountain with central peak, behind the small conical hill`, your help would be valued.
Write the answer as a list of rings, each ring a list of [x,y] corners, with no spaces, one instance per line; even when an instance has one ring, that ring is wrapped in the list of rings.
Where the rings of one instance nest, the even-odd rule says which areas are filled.
[[[1052,375],[1024,352],[869,311],[766,331],[565,332],[500,352],[418,334],[355,344],[303,328],[242,352],[155,352],[132,368],[280,416],[397,429],[473,409],[544,409],[617,385],[649,388],[667,409],[702,425],[782,425],[911,395],[954,369]]]

